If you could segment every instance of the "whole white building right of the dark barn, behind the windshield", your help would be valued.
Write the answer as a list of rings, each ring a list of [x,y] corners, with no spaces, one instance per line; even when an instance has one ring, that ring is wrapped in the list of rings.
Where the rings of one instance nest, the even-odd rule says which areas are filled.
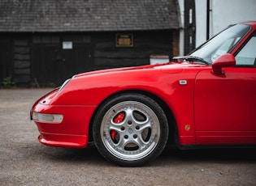
[[[185,6],[188,3],[189,9]],[[256,0],[179,0],[179,4],[183,28],[180,31],[180,55],[187,54],[184,53],[185,17],[195,31],[194,36],[189,36],[189,43],[194,40],[194,48],[232,23],[256,20]],[[186,14],[189,16],[184,16]]]

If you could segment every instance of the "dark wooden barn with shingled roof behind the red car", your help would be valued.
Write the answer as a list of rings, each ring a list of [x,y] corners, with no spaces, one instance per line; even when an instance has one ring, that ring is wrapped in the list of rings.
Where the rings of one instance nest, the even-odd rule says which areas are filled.
[[[176,0],[1,0],[0,83],[59,86],[72,75],[179,54]]]

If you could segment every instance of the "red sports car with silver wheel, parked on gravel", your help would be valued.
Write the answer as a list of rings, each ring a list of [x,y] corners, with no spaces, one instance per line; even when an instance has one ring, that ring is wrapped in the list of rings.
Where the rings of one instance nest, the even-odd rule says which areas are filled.
[[[165,146],[256,146],[256,22],[237,23],[166,64],[76,74],[33,105],[48,146],[94,142],[141,166]]]

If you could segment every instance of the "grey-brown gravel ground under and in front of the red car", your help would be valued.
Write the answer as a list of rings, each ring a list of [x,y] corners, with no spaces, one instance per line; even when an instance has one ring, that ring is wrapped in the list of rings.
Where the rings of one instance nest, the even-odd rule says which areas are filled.
[[[48,91],[0,90],[0,185],[256,185],[253,149],[167,149],[132,168],[106,162],[95,146],[43,146],[29,109]]]

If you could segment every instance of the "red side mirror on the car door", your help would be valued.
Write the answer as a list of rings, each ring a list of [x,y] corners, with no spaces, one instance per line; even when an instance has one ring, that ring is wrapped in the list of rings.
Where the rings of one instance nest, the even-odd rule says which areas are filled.
[[[223,75],[225,73],[222,68],[232,66],[236,66],[236,58],[230,53],[225,53],[212,63],[212,70],[215,74]]]

